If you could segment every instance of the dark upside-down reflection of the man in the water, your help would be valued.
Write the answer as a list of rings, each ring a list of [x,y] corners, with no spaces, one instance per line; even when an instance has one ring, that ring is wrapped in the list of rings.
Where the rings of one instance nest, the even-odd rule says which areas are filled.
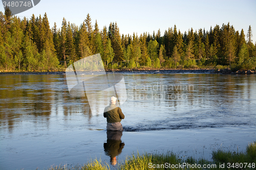
[[[116,156],[121,154],[124,147],[121,137],[122,131],[106,131],[106,143],[104,143],[104,151],[107,156],[110,156],[110,162],[112,165],[116,165]]]

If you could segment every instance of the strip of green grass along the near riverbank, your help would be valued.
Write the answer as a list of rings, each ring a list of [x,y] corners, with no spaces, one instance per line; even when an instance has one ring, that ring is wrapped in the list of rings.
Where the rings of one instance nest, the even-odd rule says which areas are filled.
[[[167,154],[137,154],[132,155],[126,160],[115,166],[114,169],[256,169],[256,143],[250,143],[246,147],[245,152],[230,152],[230,151],[214,151],[212,152],[212,161],[199,159],[195,160],[192,157],[181,159],[176,154],[170,152]],[[167,164],[165,164],[167,163]],[[186,163],[185,166],[180,166]],[[230,163],[230,164],[228,164]],[[162,167],[161,167],[162,164]],[[200,164],[201,167],[198,167]],[[158,166],[159,168],[157,168]],[[172,167],[173,165],[173,167]],[[176,167],[175,167],[176,165]],[[206,165],[206,168],[203,168]],[[208,168],[207,168],[208,165]],[[216,165],[216,166],[215,166]],[[220,165],[224,165],[220,167]],[[228,167],[229,166],[229,167]],[[246,167],[245,167],[246,166]],[[153,168],[156,167],[156,168]],[[55,166],[48,170],[85,170],[85,169],[113,169],[112,165],[104,164],[101,160],[90,161],[83,166],[67,167]]]

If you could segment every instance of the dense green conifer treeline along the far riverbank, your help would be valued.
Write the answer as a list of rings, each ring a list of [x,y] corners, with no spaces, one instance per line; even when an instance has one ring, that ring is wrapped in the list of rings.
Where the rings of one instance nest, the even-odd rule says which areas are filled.
[[[256,43],[251,27],[244,30],[216,25],[209,31],[193,28],[184,34],[174,28],[153,35],[122,35],[117,23],[99,30],[88,14],[78,27],[62,20],[50,28],[47,14],[30,19],[0,12],[0,70],[57,70],[100,53],[105,68],[197,68],[226,65],[237,69],[256,66]]]

